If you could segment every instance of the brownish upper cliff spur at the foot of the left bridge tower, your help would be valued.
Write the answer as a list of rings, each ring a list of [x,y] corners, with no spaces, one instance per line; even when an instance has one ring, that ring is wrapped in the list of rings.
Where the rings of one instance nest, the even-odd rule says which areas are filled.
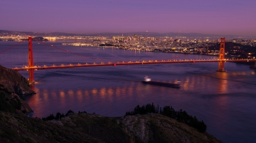
[[[18,96],[26,96],[35,94],[30,89],[29,83],[25,77],[19,72],[0,66],[0,84],[5,86],[9,92],[15,93]]]

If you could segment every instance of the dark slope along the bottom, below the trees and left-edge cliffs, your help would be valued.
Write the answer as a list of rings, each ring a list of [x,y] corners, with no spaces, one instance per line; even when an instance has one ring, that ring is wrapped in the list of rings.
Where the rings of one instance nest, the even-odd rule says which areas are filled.
[[[159,114],[110,118],[73,113],[59,124],[0,112],[0,142],[221,142]]]

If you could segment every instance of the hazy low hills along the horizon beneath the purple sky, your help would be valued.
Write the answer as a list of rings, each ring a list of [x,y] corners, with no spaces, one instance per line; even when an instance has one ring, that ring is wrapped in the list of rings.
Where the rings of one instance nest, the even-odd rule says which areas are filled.
[[[244,37],[249,38],[248,36],[236,36],[236,35],[222,35],[222,34],[201,34],[201,33],[156,33],[156,32],[127,32],[127,33],[112,33],[112,32],[104,32],[104,33],[85,33],[85,34],[75,34],[75,33],[64,33],[64,32],[51,32],[51,33],[38,33],[38,32],[18,32],[18,31],[3,31],[0,30],[0,36],[10,36],[20,35],[20,36],[33,36],[33,37],[47,37],[47,36],[133,36],[137,34],[138,36],[147,36],[147,37]]]

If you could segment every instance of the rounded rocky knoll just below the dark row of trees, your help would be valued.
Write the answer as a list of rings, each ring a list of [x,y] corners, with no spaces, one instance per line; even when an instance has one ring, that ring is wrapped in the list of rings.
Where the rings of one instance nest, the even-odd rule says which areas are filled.
[[[118,124],[137,142],[221,142],[208,132],[201,133],[160,114],[125,116]]]

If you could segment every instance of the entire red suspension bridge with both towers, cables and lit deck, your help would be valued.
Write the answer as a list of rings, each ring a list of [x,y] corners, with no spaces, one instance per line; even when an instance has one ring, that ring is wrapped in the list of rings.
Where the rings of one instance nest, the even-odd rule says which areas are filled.
[[[47,55],[43,55],[41,57],[42,59],[49,59],[52,63],[56,61],[56,63],[51,64],[51,66],[44,64],[44,66],[38,66],[37,64],[35,65],[34,63],[34,53],[33,53],[33,46],[32,46],[32,40],[37,41],[38,44],[44,44],[47,45],[48,47],[52,47],[53,49],[56,49],[58,51],[63,51],[68,54],[76,55],[76,59],[69,59],[67,57],[62,57],[62,58],[49,58]],[[218,58],[213,58],[213,59],[177,59],[179,57],[183,57],[184,55],[176,56],[176,57],[171,57],[171,58],[166,58],[166,59],[161,59],[161,60],[142,60],[142,61],[129,61],[129,62],[124,62],[121,60],[110,60],[110,59],[104,59],[104,58],[97,58],[97,57],[92,57],[92,56],[87,56],[79,53],[75,53],[73,51],[61,49],[59,47],[49,45],[46,42],[38,41],[32,37],[28,37],[28,57],[27,58],[27,63],[26,66],[23,65],[23,67],[18,68],[18,67],[10,67],[11,69],[15,71],[28,71],[29,72],[29,81],[30,83],[35,83],[34,79],[34,71],[35,70],[47,70],[47,69],[56,69],[56,68],[77,68],[77,67],[102,67],[102,66],[125,66],[125,65],[135,65],[135,64],[170,64],[170,63],[207,63],[207,62],[218,62],[218,69],[216,71],[219,72],[225,72],[224,70],[224,64],[225,62],[255,62],[255,67],[256,67],[256,59],[250,59],[249,55],[245,53],[245,51],[242,51],[241,49],[238,49],[240,51],[240,54],[245,55],[245,57],[240,57],[240,59],[226,59],[225,58],[225,38],[221,38],[220,41],[220,50],[218,53]],[[10,58],[8,54],[5,54],[6,51],[13,49],[13,47],[21,44],[24,41],[20,41],[17,44],[7,47],[6,49],[0,51],[0,55],[2,60],[0,60],[0,64],[5,64],[10,60],[14,59],[24,59],[24,55],[14,55],[14,59]],[[42,50],[42,49],[40,49]],[[15,53],[19,53],[18,51],[15,51]],[[56,52],[58,54],[58,52]],[[20,58],[23,57],[23,58]],[[5,60],[4,60],[5,59]],[[90,59],[90,60],[89,60]],[[62,60],[76,60],[79,61],[78,64],[60,64],[57,65],[57,63],[60,63]],[[92,60],[97,60],[97,63]],[[85,63],[85,61],[88,61]],[[13,62],[13,61],[11,61]],[[20,62],[20,61],[19,61]],[[7,64],[8,65],[8,64]]]

